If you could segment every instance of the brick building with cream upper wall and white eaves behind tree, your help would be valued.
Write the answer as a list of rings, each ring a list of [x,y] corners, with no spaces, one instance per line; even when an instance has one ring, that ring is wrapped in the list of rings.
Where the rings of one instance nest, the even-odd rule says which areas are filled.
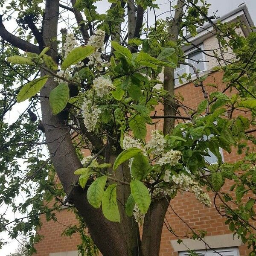
[[[250,27],[253,26],[253,22],[245,5],[239,6],[238,9],[221,17],[220,20],[223,22],[234,22],[238,17],[242,22],[238,32],[247,36],[250,32]],[[197,45],[211,55],[213,53],[211,51],[212,49],[218,49],[218,42],[212,32],[214,32],[212,26],[207,25],[204,29],[198,31],[198,35],[195,38],[190,40],[188,37],[188,39],[192,41],[194,45]],[[215,58],[205,55],[204,52],[198,51],[198,49],[192,48],[191,46],[184,47],[184,52],[185,55],[191,59],[205,61],[196,63],[189,60],[197,69],[201,70],[200,75],[210,73],[210,76],[204,81],[204,84],[214,83],[218,86],[219,90],[224,89],[225,84],[222,82],[223,74],[212,71],[212,68],[218,65]],[[233,55],[230,53],[224,53],[226,59],[231,59],[232,56]],[[175,77],[177,78],[177,74],[181,75],[183,73],[192,73],[192,70],[189,70],[189,66],[181,65],[175,71]],[[175,93],[180,93],[184,97],[185,105],[196,109],[198,103],[204,99],[201,88],[195,87],[191,82],[184,81],[183,84],[179,84],[178,79],[175,81]],[[216,89],[207,86],[206,90],[210,93]],[[161,115],[163,106],[159,105],[157,111],[157,115]],[[157,128],[161,128],[162,125],[163,119],[160,119],[157,123]],[[239,160],[239,157],[243,157],[241,155],[236,155],[236,151],[228,154],[221,150],[221,154],[224,162],[233,162]],[[208,157],[207,160],[210,163],[216,163],[216,158],[213,155]],[[231,181],[226,181],[225,186],[222,188],[224,192],[229,190],[230,183]],[[210,193],[210,196],[213,201],[213,193]],[[207,208],[198,202],[194,195],[188,193],[177,195],[171,200],[170,205],[171,206],[166,213],[166,221],[162,232],[160,256],[185,256],[188,255],[186,252],[186,250],[188,250],[187,248],[196,250],[196,252],[202,256],[218,255],[212,250],[207,250],[206,244],[208,244],[210,248],[214,248],[215,251],[218,251],[223,256],[248,255],[249,250],[247,250],[247,246],[243,245],[240,239],[237,239],[236,237],[233,239],[233,234],[230,233],[228,226],[224,224],[225,219],[218,214],[214,205]],[[42,216],[41,221],[43,224],[39,233],[44,235],[44,239],[36,246],[38,250],[37,255],[77,256],[76,245],[80,242],[79,235],[74,234],[71,238],[61,236],[65,226],[73,225],[76,222],[75,215],[67,209],[63,209],[56,213],[56,217],[58,218],[58,222],[47,222],[45,217]],[[206,230],[207,235],[204,239],[205,243],[193,239],[183,239],[185,245],[178,244],[177,238],[169,231],[169,229],[172,228],[172,230],[175,230],[177,236],[185,236],[186,233],[189,233],[189,227],[195,230]]]

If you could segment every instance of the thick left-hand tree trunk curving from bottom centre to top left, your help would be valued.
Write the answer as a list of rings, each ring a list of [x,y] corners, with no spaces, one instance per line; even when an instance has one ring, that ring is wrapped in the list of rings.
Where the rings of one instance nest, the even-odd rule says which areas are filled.
[[[45,44],[51,46],[50,55],[56,61],[58,8],[59,0],[46,0],[43,37]],[[41,76],[46,74],[46,72],[41,71]],[[55,171],[64,191],[69,194],[77,180],[74,171],[81,168],[82,165],[74,150],[70,129],[61,118],[61,114],[53,115],[49,106],[49,93],[56,86],[53,78],[49,78],[41,90],[42,126]],[[137,255],[137,228],[131,218],[122,218],[120,223],[108,221],[101,209],[90,206],[86,199],[86,190],[80,187],[73,189],[71,199],[84,218],[94,243],[104,256]]]

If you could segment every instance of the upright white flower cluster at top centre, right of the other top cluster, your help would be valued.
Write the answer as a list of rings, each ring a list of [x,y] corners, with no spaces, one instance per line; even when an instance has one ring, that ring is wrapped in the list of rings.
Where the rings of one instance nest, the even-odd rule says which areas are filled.
[[[87,45],[91,45],[96,48],[95,52],[93,52],[88,58],[89,62],[87,66],[94,65],[98,67],[99,70],[102,70],[102,66],[104,62],[102,61],[101,58],[101,52],[104,51],[104,38],[105,38],[105,31],[101,29],[97,29],[95,32],[95,35],[92,35],[89,40]]]

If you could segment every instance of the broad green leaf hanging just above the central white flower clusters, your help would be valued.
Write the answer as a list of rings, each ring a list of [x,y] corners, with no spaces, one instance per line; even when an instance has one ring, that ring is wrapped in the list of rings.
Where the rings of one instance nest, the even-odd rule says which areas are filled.
[[[129,119],[129,127],[131,128],[131,130],[134,133],[134,136],[137,139],[144,139],[146,137],[147,128],[143,116],[131,116]]]

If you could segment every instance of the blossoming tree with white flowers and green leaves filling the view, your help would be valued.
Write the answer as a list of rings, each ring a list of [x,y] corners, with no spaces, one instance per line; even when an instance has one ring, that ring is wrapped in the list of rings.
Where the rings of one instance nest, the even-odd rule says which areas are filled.
[[[255,216],[256,155],[247,146],[255,144],[250,128],[256,108],[255,32],[244,38],[236,33],[240,23],[213,23],[204,0],[200,4],[177,0],[174,16],[155,17],[151,26],[143,23],[143,14],[149,9],[154,12],[157,3],[109,2],[108,11],[99,14],[89,0],[71,0],[72,7],[59,0],[0,1],[5,8],[0,16],[0,200],[15,211],[29,210],[29,215],[14,221],[1,215],[1,229],[14,239],[19,233],[29,236],[33,253],[33,244],[41,239],[34,232],[40,227],[39,216],[55,219],[54,210],[69,203],[80,224],[65,233],[81,234],[84,243],[79,249],[84,255],[95,253],[95,244],[104,256],[156,256],[171,198],[183,189],[209,206],[203,189],[207,187],[221,200],[221,214],[230,230],[255,255],[251,220]],[[73,33],[61,30],[61,40],[60,10],[72,12],[77,22],[70,28]],[[18,35],[4,25],[15,17],[13,12]],[[224,91],[216,88],[210,94],[203,83],[207,76],[200,77],[192,64],[184,62],[181,50],[184,43],[189,44],[185,35],[195,36],[205,22],[215,28],[220,51],[220,56],[214,56],[220,63],[216,70],[227,83]],[[235,55],[232,61],[223,55],[230,48]],[[195,110],[183,105],[174,92],[174,69],[180,64],[194,69],[197,79],[193,83],[204,95]],[[191,74],[182,78],[192,81]],[[232,96],[225,94],[227,90]],[[6,115],[27,99],[27,110],[10,124]],[[163,104],[163,116],[152,114],[159,104]],[[237,115],[237,111],[249,111],[251,116]],[[151,140],[146,141],[155,118],[163,119],[163,131],[153,129]],[[184,122],[175,126],[175,120]],[[49,150],[47,160],[42,145]],[[236,148],[245,154],[244,159],[222,163],[219,147],[228,152]],[[84,149],[92,155],[82,164]],[[218,164],[207,164],[204,156],[209,151]],[[26,171],[18,159],[26,160]],[[56,175],[61,184],[55,182]],[[233,180],[236,198],[220,191],[226,179]],[[26,200],[16,205],[12,198],[20,192]],[[251,196],[249,200],[246,195]],[[53,199],[53,205],[47,203]],[[204,232],[192,236],[201,239]]]

